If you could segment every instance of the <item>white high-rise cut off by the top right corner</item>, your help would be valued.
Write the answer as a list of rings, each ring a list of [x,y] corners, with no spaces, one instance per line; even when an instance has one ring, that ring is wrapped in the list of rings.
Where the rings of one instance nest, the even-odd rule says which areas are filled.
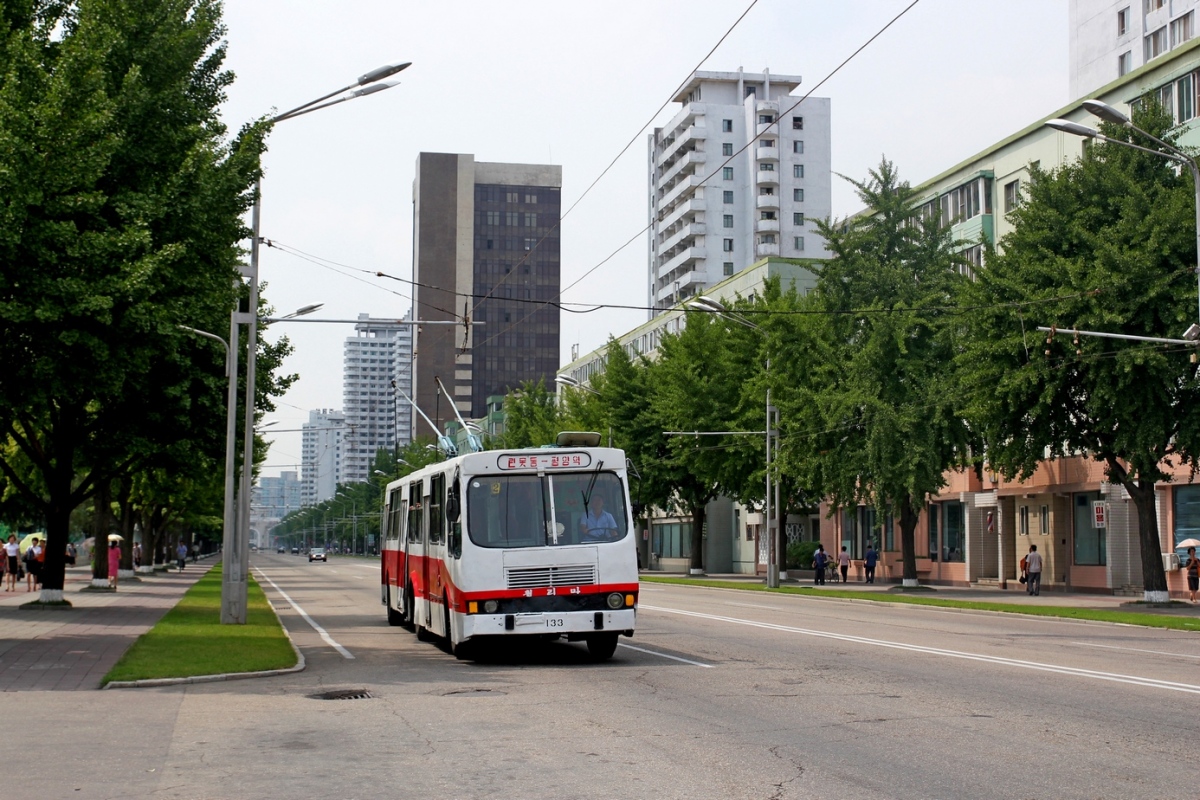
[[[1192,40],[1196,6],[1200,0],[1070,0],[1072,100]]]

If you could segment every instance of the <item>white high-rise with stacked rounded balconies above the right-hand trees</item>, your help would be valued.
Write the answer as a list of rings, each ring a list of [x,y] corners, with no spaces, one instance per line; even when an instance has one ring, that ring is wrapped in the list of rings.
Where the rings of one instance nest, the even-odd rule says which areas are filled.
[[[833,211],[828,97],[799,76],[696,72],[649,137],[654,317],[768,258],[824,258]]]

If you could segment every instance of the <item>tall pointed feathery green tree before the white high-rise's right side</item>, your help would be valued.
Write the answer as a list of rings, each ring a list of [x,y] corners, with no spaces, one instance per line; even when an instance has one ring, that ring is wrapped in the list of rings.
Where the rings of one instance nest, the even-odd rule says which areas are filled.
[[[818,223],[833,258],[804,299],[811,313],[790,318],[808,357],[785,359],[779,374],[794,387],[780,392],[781,458],[835,509],[894,513],[904,581],[914,585],[919,515],[972,441],[955,391],[958,318],[947,311],[964,261],[890,162],[853,184],[866,212]]]

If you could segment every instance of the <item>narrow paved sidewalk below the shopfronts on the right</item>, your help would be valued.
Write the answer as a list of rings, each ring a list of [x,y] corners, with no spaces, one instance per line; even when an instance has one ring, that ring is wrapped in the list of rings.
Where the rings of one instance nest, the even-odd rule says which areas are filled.
[[[689,576],[680,575],[679,572],[654,572],[649,570],[642,570],[640,572],[643,577],[661,577],[661,578],[683,578],[688,579]],[[714,573],[695,576],[696,581],[725,581],[730,583],[745,583],[745,584],[758,584],[766,583],[766,577],[754,576],[754,575],[742,575],[742,573]],[[854,582],[851,579],[848,583],[834,582],[830,578],[826,578],[826,584],[823,587],[816,587],[812,584],[811,578],[797,579],[788,578],[787,581],[780,582],[784,587],[796,587],[804,589],[816,589],[821,590],[846,590],[846,591],[866,591],[872,594],[899,594],[896,590],[899,583],[871,583],[866,584],[862,581]],[[1193,606],[1184,601],[1182,606],[1172,606],[1170,608],[1147,608],[1141,604],[1133,604],[1141,600],[1141,595],[1129,596],[1129,595],[1102,595],[1092,594],[1086,591],[1060,591],[1057,589],[1043,588],[1042,594],[1033,597],[1025,591],[1025,585],[1018,583],[1016,581],[1008,582],[1008,589],[1001,589],[996,585],[974,585],[974,587],[943,587],[943,585],[929,585],[922,584],[923,588],[931,589],[929,593],[922,593],[917,595],[919,597],[940,597],[944,600],[962,600],[968,602],[985,602],[985,603],[1012,603],[1014,606],[1056,606],[1061,608],[1096,608],[1104,610],[1135,610],[1146,614],[1172,614],[1178,616],[1200,616],[1200,604]]]

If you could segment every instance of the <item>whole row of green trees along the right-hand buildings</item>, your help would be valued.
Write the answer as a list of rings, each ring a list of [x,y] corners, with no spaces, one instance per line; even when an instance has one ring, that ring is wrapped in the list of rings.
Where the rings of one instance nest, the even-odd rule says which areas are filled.
[[[1138,122],[1170,138],[1157,109]],[[948,470],[986,463],[1028,477],[1048,457],[1086,453],[1136,504],[1145,590],[1160,599],[1153,487],[1172,465],[1195,469],[1198,367],[1187,349],[1070,336],[1043,344],[1034,329],[1177,337],[1196,308],[1188,178],[1118,145],[1052,173],[1033,166],[1015,230],[1000,248],[988,243],[982,266],[886,160],[854,185],[868,211],[820,224],[832,258],[812,265],[812,291],[768,282],[725,313],[691,312],[653,360],[632,361],[611,341],[589,390],[566,390],[562,403],[541,385],[511,396],[497,444],[611,431],[637,469],[635,505],[691,517],[700,567],[704,505],[718,495],[762,504],[763,439],[664,432],[762,431],[769,387],[785,510],[828,499],[892,515],[913,582],[913,531]]]

